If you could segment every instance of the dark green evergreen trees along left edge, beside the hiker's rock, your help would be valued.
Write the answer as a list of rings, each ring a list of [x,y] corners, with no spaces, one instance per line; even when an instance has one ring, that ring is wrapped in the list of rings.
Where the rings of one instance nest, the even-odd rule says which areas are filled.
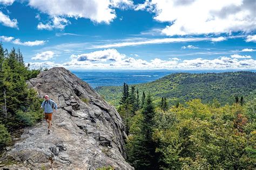
[[[43,118],[42,100],[26,80],[36,77],[40,70],[24,65],[22,53],[15,48],[10,52],[0,44],[0,152],[12,144],[17,132]]]

